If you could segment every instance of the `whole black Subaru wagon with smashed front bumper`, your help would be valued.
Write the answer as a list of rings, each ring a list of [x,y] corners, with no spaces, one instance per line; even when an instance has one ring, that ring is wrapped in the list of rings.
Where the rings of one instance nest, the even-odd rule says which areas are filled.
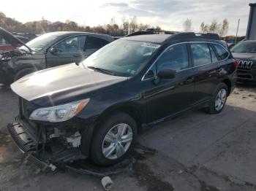
[[[90,157],[112,165],[127,156],[143,127],[189,109],[222,112],[236,68],[215,34],[132,34],[79,65],[13,83],[20,114],[8,129],[41,164]]]

